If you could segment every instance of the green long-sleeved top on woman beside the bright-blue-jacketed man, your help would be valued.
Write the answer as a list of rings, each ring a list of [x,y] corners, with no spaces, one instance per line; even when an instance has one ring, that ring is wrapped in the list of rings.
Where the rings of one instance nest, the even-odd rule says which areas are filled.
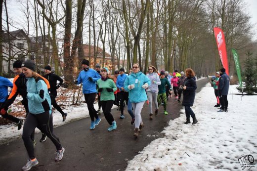
[[[96,84],[98,85],[98,88],[103,88],[100,95],[101,101],[115,100],[113,92],[117,90],[117,87],[112,79],[107,79],[105,81],[103,81],[102,79],[99,79],[97,80]],[[106,88],[112,88],[113,91],[108,92]]]

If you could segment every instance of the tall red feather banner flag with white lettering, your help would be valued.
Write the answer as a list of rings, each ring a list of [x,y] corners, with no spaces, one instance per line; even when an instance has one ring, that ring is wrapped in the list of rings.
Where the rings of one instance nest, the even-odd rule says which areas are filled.
[[[220,57],[220,60],[222,62],[223,67],[226,69],[226,73],[229,76],[229,68],[227,63],[227,50],[226,50],[226,43],[225,43],[225,37],[223,34],[223,31],[218,28],[214,27],[214,35],[218,47],[218,54]]]

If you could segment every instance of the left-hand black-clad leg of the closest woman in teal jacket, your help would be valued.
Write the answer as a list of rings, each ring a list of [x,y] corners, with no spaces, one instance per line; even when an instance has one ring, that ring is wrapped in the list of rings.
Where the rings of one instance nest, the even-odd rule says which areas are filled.
[[[34,154],[34,146],[31,139],[31,134],[35,131],[35,128],[38,126],[38,120],[34,114],[29,113],[26,117],[23,131],[22,131],[22,139],[25,145],[25,148],[28,152],[29,158],[35,159]]]

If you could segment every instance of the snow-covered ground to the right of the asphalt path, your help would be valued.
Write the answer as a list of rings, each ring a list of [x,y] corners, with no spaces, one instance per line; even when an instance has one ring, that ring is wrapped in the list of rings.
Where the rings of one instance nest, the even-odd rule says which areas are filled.
[[[198,123],[183,124],[182,110],[184,115],[163,131],[165,137],[146,146],[126,171],[256,171],[257,95],[241,100],[236,86],[230,85],[225,113],[217,112],[214,89],[207,84],[192,107]]]

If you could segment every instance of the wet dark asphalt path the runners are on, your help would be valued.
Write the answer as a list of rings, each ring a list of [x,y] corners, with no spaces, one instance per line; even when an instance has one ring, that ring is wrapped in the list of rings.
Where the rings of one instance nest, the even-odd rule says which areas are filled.
[[[197,81],[197,92],[206,83],[206,79]],[[112,110],[117,122],[115,131],[107,131],[109,125],[103,114],[100,115],[102,121],[94,130],[89,130],[89,117],[54,128],[55,134],[65,148],[64,157],[60,162],[54,161],[55,147],[50,139],[39,142],[41,134],[38,133],[35,135],[37,141],[35,154],[39,165],[31,171],[124,171],[128,161],[139,151],[154,139],[163,137],[161,133],[163,128],[168,126],[170,120],[180,116],[180,109],[182,109],[181,104],[170,99],[167,105],[169,115],[164,115],[163,107],[160,106],[159,114],[150,121],[149,109],[145,103],[141,112],[145,126],[138,138],[133,137],[134,127],[130,125],[131,117],[127,107],[126,118],[122,120],[119,119],[119,111]],[[68,114],[68,117],[69,115],[72,114]],[[28,155],[21,138],[0,145],[0,171],[20,171],[27,159]]]

